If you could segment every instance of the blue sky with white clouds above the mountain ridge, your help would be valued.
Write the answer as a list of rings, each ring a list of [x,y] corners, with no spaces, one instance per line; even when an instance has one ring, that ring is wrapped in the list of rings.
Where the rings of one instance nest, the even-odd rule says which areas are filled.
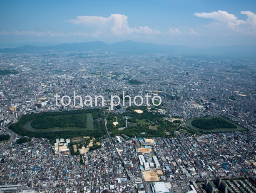
[[[0,46],[100,40],[256,45],[256,0],[1,0]]]

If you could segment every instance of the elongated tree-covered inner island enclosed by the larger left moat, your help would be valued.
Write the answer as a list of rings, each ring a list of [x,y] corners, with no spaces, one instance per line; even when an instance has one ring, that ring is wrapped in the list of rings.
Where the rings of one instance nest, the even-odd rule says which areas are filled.
[[[54,127],[87,127],[87,114],[59,115],[39,117],[31,122],[35,129],[48,129]]]

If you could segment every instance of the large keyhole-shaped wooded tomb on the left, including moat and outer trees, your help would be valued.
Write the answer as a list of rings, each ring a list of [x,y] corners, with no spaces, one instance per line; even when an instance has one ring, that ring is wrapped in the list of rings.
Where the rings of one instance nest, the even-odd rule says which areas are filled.
[[[39,138],[102,137],[106,131],[99,109],[41,112],[23,115],[9,126],[21,136]]]

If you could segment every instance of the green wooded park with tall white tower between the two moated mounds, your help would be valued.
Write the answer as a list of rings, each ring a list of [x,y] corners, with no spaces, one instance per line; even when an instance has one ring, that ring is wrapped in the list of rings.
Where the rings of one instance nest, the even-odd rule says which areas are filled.
[[[128,127],[125,128],[127,117]],[[174,137],[176,125],[164,120],[164,115],[147,110],[147,107],[127,107],[122,114],[110,113],[107,128],[112,137],[125,134],[129,137]]]

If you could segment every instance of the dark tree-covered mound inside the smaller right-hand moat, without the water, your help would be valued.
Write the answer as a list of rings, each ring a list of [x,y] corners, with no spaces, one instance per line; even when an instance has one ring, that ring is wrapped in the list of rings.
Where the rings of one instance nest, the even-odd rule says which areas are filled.
[[[191,122],[191,125],[199,129],[237,128],[236,125],[221,117],[195,119]]]

